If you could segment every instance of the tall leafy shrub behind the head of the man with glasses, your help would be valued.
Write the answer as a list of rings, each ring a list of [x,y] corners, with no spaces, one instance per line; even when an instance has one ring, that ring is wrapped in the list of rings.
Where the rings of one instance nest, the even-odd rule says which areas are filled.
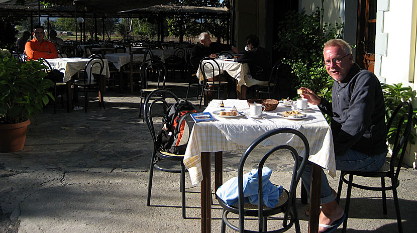
[[[331,79],[323,65],[323,46],[330,39],[341,38],[343,24],[321,23],[320,10],[311,15],[287,13],[286,20],[279,24],[278,42],[274,48],[282,57],[282,63],[291,67],[292,73],[285,74],[290,81],[286,89],[301,86],[320,92]]]

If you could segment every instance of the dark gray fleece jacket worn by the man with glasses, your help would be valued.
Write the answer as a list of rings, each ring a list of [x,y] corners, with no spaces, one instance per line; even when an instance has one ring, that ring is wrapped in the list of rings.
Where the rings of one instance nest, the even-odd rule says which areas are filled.
[[[319,108],[332,117],[336,156],[349,149],[370,156],[387,150],[384,96],[372,72],[354,63],[341,83],[333,83],[332,103],[322,98]]]

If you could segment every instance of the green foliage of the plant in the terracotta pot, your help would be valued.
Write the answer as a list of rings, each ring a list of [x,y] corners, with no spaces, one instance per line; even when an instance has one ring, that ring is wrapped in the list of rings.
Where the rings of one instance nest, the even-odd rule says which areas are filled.
[[[7,55],[0,57],[0,124],[24,122],[43,110],[54,99],[48,90],[54,85],[45,79],[42,61],[18,62]]]

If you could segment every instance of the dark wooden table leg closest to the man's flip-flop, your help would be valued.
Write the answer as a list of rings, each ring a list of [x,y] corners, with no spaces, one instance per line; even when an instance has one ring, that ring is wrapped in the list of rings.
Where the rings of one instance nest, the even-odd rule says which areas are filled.
[[[322,168],[311,163],[310,209],[308,218],[308,232],[319,232],[320,192],[322,187]]]

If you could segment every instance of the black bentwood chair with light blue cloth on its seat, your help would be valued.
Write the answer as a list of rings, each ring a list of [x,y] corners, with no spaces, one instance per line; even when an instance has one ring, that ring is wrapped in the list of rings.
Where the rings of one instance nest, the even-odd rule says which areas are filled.
[[[262,156],[261,161],[259,162],[259,165],[257,165],[258,168],[258,177],[262,177],[262,168],[264,167],[264,164],[266,164],[266,161],[268,158],[272,157],[281,157],[283,156],[281,153],[274,153],[280,150],[286,150],[291,154],[292,159],[294,160],[294,164],[292,167],[292,177],[291,182],[289,184],[289,190],[284,188],[284,191],[281,196],[279,196],[279,202],[272,208],[268,208],[264,206],[263,203],[263,187],[262,187],[262,179],[258,178],[258,199],[259,203],[258,205],[246,203],[244,204],[244,193],[243,193],[243,169],[245,162],[248,160],[248,157],[251,155],[251,152],[254,151],[255,148],[257,148],[258,145],[263,145],[264,142],[267,142],[267,140],[271,140],[271,137],[282,137],[285,135],[293,135],[294,140],[300,140],[299,143],[300,147],[302,148],[302,151],[304,152],[304,156],[301,160],[300,156],[298,155],[297,151],[289,145],[278,145],[273,146],[267,153],[265,153]],[[253,153],[256,154],[256,153]],[[271,156],[273,155],[273,156]],[[258,155],[252,155],[251,157],[258,156]],[[278,232],[284,232],[287,231],[292,227],[292,225],[295,225],[295,232],[300,232],[300,225],[298,221],[298,214],[297,214],[297,208],[295,206],[295,190],[297,188],[298,181],[301,178],[301,174],[304,170],[305,164],[308,161],[309,156],[309,145],[308,141],[305,138],[303,134],[301,134],[299,131],[293,130],[293,129],[275,129],[272,131],[269,131],[260,137],[258,137],[249,147],[246,149],[246,151],[243,153],[241,160],[239,162],[239,170],[238,170],[238,186],[239,186],[239,204],[237,205],[228,205],[225,201],[223,201],[219,196],[218,200],[220,205],[223,208],[223,217],[222,217],[222,232],[225,232],[225,224],[229,226],[230,228],[239,231],[241,233],[243,232],[269,232],[269,233],[278,233]],[[259,158],[259,157],[257,157]],[[249,161],[253,160],[249,159]],[[284,182],[283,182],[284,185]],[[239,226],[236,226],[233,224],[229,218],[228,214],[232,212],[234,214],[239,215]],[[267,218],[268,219],[278,219],[276,215],[278,213],[284,213],[282,218],[282,227],[280,229],[276,230],[267,230]],[[258,217],[258,230],[249,230],[245,229],[245,216],[252,216],[252,217]]]

